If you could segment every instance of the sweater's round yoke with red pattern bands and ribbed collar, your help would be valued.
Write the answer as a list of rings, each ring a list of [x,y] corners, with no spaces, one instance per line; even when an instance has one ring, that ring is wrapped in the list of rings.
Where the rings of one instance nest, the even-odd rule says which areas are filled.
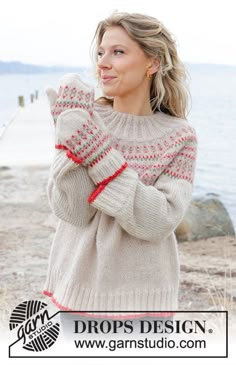
[[[132,116],[98,104],[95,110],[105,121],[113,147],[145,185],[154,185],[162,173],[193,183],[196,133],[186,120],[161,112]]]

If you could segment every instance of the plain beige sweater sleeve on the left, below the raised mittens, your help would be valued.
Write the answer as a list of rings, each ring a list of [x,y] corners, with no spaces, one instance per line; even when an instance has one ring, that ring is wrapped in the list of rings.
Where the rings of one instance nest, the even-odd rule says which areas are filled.
[[[47,193],[53,213],[60,219],[84,226],[97,209],[88,203],[95,185],[87,169],[68,159],[65,151],[57,151],[51,166]]]

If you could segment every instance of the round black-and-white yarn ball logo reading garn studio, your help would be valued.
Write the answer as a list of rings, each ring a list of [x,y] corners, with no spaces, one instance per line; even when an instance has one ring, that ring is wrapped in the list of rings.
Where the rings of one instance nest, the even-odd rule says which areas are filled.
[[[17,329],[18,340],[29,351],[44,351],[57,340],[60,324],[49,317],[46,303],[38,300],[22,302],[12,311],[9,321],[10,330]]]

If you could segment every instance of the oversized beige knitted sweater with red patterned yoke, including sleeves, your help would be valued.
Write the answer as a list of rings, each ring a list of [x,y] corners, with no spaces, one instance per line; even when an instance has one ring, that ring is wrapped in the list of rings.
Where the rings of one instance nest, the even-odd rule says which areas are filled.
[[[174,234],[191,201],[197,140],[188,121],[95,104],[116,159],[86,168],[57,151],[48,197],[59,218],[44,294],[63,310],[175,311]],[[128,167],[101,189],[94,181]]]

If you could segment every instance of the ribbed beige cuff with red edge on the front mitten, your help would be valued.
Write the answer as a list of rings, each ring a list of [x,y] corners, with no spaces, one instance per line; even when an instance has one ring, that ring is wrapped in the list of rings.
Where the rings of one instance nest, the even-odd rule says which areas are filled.
[[[119,171],[122,172],[127,166],[128,164],[120,152],[112,148],[94,166],[88,167],[88,174],[95,185],[106,185],[119,175]]]

